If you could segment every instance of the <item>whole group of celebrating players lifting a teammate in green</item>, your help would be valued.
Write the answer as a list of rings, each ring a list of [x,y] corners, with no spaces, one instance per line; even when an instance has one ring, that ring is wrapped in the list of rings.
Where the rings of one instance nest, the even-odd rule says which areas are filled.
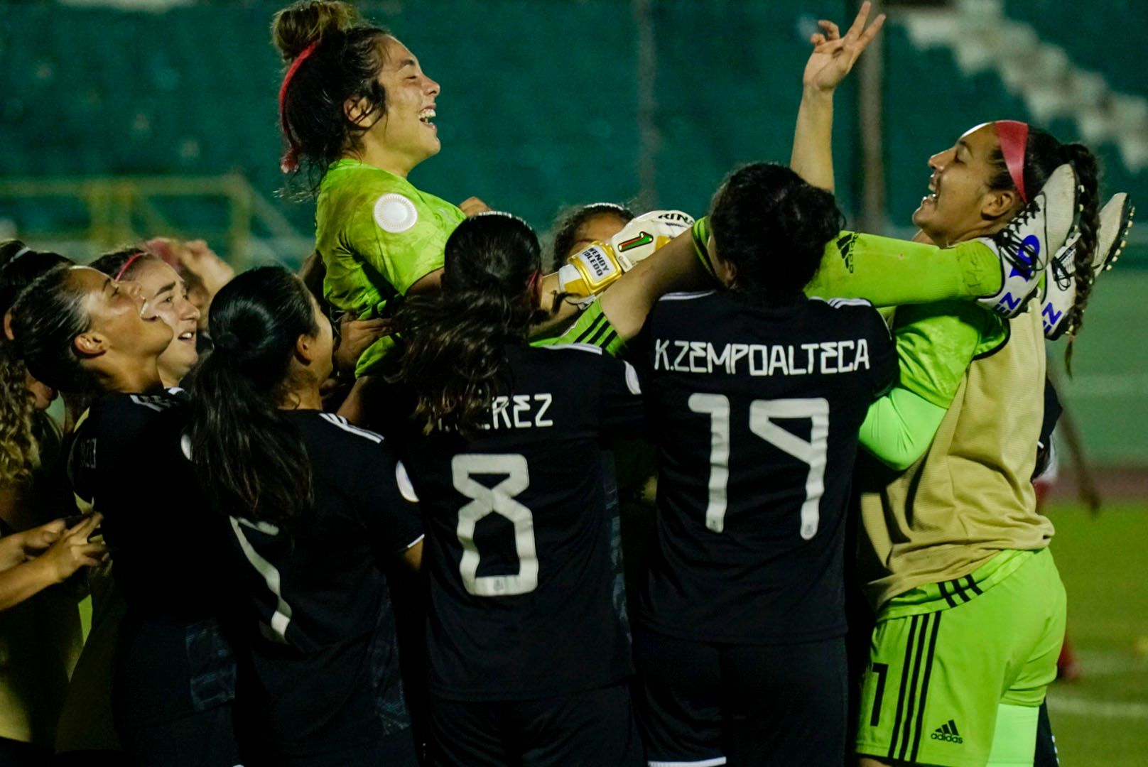
[[[735,170],[697,220],[589,206],[551,274],[521,219],[408,180],[440,86],[329,0],[273,24],[284,170],[321,179],[302,277],[8,248],[21,423],[45,442],[31,393],[64,394],[93,511],[5,529],[29,560],[0,581],[96,568],[60,730],[83,706],[108,735],[61,750],[1032,765],[1065,611],[1031,486],[1045,340],[1131,207],[1100,208],[1084,146],[996,121],[929,158],[915,241],[843,231],[832,94],[868,14],[813,37],[790,166]],[[650,474],[647,524],[620,520]]]

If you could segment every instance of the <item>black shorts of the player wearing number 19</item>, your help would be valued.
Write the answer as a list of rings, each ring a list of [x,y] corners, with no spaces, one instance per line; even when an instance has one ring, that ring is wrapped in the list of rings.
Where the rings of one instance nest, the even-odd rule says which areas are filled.
[[[732,645],[637,629],[634,660],[651,767],[845,761],[843,638]]]

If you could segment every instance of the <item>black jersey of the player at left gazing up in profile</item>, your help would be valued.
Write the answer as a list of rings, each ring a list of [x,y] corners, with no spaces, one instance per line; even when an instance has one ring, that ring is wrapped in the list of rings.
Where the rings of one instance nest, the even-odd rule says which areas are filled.
[[[226,704],[234,664],[219,628],[224,573],[194,473],[180,452],[186,395],[101,396],[68,456],[76,496],[103,514],[116,584],[127,601],[115,684],[118,723],[171,721]]]

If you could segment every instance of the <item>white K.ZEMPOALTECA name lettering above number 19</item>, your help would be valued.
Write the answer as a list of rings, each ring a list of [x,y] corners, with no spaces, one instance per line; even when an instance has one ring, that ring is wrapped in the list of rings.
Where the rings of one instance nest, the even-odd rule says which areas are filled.
[[[670,349],[676,354],[670,355]],[[744,361],[744,362],[743,362]],[[747,372],[750,375],[833,374],[869,370],[869,342],[841,339],[820,343],[726,343],[654,339],[653,369],[676,373]]]

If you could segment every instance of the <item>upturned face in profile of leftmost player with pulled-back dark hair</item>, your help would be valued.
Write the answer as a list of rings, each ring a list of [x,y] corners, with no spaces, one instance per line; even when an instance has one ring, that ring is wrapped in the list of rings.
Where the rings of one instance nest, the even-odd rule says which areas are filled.
[[[71,286],[84,295],[88,328],[73,340],[85,356],[109,351],[131,358],[157,358],[171,343],[172,330],[149,307],[135,282],[116,282],[88,266],[73,266]]]

